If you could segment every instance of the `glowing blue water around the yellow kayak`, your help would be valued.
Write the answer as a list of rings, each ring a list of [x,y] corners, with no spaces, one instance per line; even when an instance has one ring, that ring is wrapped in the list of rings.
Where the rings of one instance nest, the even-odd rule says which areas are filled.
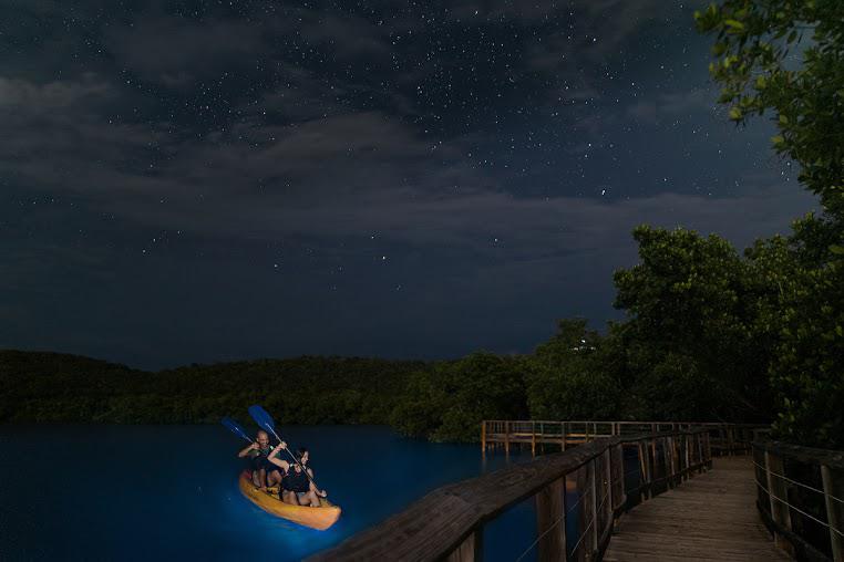
[[[343,509],[328,531],[265,513],[237,487],[245,441],[223,426],[0,426],[0,560],[300,560],[432,489],[528,455],[403,439],[378,426],[286,427]],[[490,523],[486,560],[535,538],[528,500]],[[524,560],[533,560],[535,551]]]

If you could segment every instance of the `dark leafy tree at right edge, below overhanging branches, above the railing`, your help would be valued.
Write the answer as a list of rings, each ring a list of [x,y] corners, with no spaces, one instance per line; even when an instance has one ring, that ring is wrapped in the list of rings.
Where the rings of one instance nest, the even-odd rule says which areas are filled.
[[[775,342],[770,357],[776,393],[774,430],[802,445],[844,448],[844,263],[834,252],[844,228],[812,215],[790,238],[748,250],[771,288],[758,332]]]

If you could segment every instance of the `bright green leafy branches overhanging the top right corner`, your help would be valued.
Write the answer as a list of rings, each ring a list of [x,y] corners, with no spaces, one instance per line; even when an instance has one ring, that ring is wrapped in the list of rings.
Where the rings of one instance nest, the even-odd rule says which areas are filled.
[[[724,0],[694,19],[717,38],[710,73],[730,118],[772,111],[780,129],[773,148],[800,164],[800,181],[830,212],[843,214],[844,2]]]

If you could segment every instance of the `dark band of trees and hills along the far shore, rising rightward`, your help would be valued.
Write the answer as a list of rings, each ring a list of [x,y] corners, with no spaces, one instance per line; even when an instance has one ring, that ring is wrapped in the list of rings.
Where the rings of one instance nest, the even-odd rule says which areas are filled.
[[[282,424],[390,424],[475,440],[482,419],[773,422],[844,446],[844,283],[832,218],[740,256],[724,239],[639,227],[640,263],[615,274],[627,312],[605,334],[559,321],[533,353],[455,361],[298,357],[146,373],[0,352],[0,422],[216,423],[263,404]],[[830,263],[833,263],[832,266]]]

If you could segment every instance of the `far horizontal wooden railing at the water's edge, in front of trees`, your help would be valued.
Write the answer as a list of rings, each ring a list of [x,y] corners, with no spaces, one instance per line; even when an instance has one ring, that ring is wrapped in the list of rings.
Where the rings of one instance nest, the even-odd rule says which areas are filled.
[[[481,449],[502,447],[510,452],[513,446],[537,448],[546,445],[568,447],[580,445],[600,437],[630,436],[644,433],[679,431],[692,427],[706,428],[710,434],[710,445],[714,455],[749,454],[750,444],[766,431],[768,426],[759,424],[723,424],[691,422],[585,422],[542,419],[486,419],[481,423]]]

